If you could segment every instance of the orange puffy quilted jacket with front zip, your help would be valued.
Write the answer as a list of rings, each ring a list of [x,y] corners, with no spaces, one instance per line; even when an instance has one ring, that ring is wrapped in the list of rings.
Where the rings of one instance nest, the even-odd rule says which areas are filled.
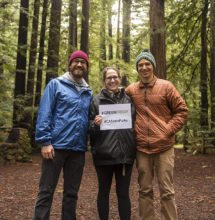
[[[137,150],[154,154],[171,148],[175,133],[185,124],[188,108],[174,85],[154,76],[145,86],[136,82],[126,88],[136,107]]]

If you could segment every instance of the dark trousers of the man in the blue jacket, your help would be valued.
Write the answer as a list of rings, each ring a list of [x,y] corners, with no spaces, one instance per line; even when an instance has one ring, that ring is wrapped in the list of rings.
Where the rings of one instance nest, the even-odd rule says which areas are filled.
[[[85,153],[72,150],[56,150],[55,157],[43,159],[39,193],[36,199],[34,220],[48,220],[53,195],[63,168],[64,191],[62,219],[76,219],[77,194],[83,174]]]

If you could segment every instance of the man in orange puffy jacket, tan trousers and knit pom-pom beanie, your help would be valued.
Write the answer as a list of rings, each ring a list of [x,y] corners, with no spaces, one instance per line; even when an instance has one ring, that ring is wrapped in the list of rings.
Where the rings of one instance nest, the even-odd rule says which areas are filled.
[[[156,62],[148,50],[136,58],[140,81],[126,88],[136,107],[137,169],[139,173],[139,213],[154,220],[153,186],[157,175],[161,196],[161,219],[176,220],[173,187],[175,133],[185,124],[188,109],[174,85],[155,76]]]

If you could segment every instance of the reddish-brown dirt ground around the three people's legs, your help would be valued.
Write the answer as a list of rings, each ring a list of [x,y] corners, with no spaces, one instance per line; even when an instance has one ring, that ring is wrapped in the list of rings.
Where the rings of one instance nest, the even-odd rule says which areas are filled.
[[[215,155],[192,155],[176,149],[175,190],[180,220],[215,220]],[[41,169],[40,154],[32,163],[0,165],[0,219],[32,219]],[[63,190],[62,176],[55,192],[51,220],[60,219]],[[156,220],[159,215],[159,193],[154,184]],[[137,171],[134,167],[131,187],[132,220],[138,219]],[[86,164],[77,205],[77,220],[97,220],[97,178],[90,153]],[[115,185],[110,195],[110,218],[119,219]]]

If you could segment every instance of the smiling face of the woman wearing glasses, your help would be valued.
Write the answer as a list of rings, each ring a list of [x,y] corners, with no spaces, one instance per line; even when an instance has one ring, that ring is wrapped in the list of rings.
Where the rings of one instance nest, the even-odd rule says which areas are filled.
[[[117,92],[120,84],[121,77],[119,76],[117,71],[115,71],[114,69],[108,69],[104,78],[104,85],[106,89],[112,92]]]

